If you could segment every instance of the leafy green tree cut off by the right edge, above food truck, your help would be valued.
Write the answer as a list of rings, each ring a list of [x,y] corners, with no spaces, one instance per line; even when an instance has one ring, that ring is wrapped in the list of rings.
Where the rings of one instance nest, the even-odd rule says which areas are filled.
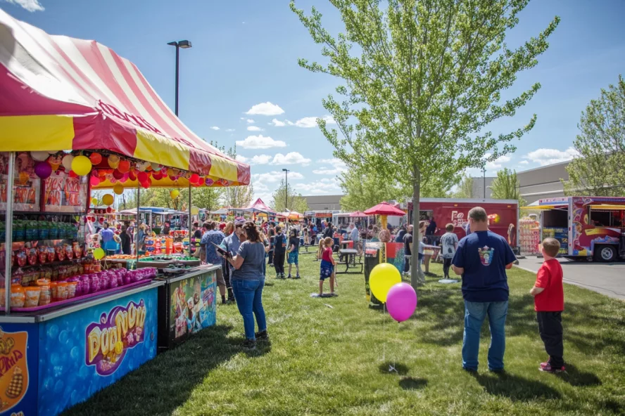
[[[601,89],[581,112],[574,146],[579,157],[567,166],[566,195],[625,195],[625,81]]]

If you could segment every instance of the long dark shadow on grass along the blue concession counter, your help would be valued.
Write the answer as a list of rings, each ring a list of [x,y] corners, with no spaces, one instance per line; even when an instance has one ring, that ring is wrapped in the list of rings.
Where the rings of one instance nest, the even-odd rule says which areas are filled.
[[[208,373],[243,351],[242,339],[227,336],[230,330],[229,325],[215,325],[198,332],[63,415],[125,416],[130,412],[128,403],[137,403],[137,398],[141,405],[132,405],[132,415],[170,415],[189,400]],[[249,351],[248,355],[260,356],[269,350]]]

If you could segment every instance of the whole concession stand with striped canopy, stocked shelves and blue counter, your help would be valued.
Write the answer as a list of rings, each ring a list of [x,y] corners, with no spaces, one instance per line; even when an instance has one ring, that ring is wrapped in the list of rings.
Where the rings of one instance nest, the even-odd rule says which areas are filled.
[[[110,48],[2,10],[0,27],[0,415],[54,416],[156,356],[170,332],[165,295],[176,294],[187,332],[215,323],[220,266],[158,279],[158,268],[87,252],[91,190],[139,201],[141,188],[247,185],[250,170],[190,131]],[[188,206],[190,222],[191,192]]]

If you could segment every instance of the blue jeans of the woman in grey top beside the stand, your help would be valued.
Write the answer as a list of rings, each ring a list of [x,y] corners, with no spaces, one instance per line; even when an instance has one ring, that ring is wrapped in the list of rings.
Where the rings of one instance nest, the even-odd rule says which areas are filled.
[[[265,309],[263,309],[263,287],[265,280],[232,280],[232,292],[239,313],[243,316],[243,326],[245,327],[245,337],[256,339],[254,335],[254,316],[258,324],[258,331],[267,330],[267,320],[265,320]]]

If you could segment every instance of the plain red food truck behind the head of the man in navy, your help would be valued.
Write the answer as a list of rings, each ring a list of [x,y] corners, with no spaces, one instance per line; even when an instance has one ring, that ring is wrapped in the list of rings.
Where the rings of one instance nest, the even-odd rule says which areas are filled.
[[[412,223],[412,201],[408,200],[408,223]],[[505,238],[510,247],[517,249],[519,241],[519,202],[517,200],[480,200],[462,198],[421,198],[421,220],[434,218],[436,233],[443,235],[445,226],[452,223],[458,238],[465,237],[469,209],[482,207],[488,214],[488,228]]]

